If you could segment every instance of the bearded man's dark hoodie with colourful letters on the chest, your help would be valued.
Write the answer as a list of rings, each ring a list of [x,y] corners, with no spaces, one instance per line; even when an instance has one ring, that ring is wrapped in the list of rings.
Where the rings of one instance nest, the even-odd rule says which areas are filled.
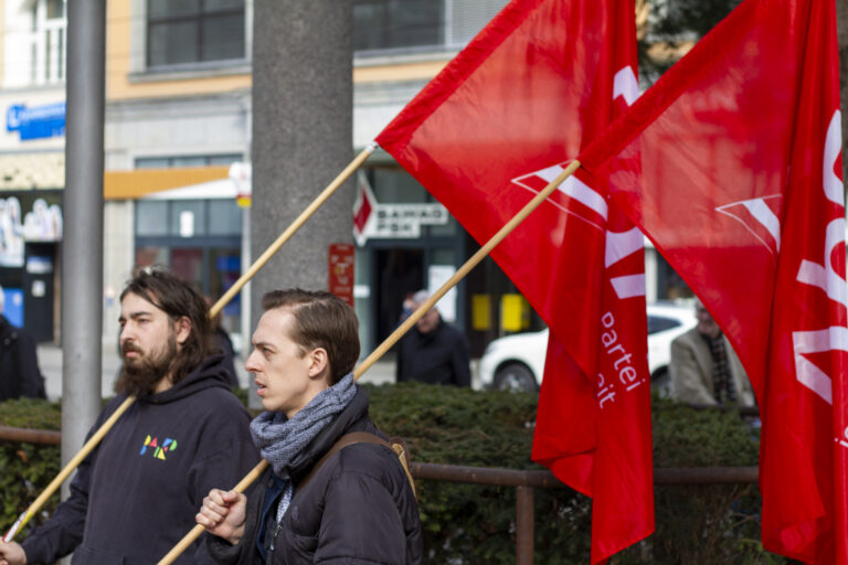
[[[193,526],[212,488],[234,487],[259,460],[250,416],[221,355],[171,388],[138,398],[78,467],[71,498],[22,544],[28,564],[156,563]],[[123,403],[118,395],[88,436]],[[179,564],[209,563],[197,543]]]

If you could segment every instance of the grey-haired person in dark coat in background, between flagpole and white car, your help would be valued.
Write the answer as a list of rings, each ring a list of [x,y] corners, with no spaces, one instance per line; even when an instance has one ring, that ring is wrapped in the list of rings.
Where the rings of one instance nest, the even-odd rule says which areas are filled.
[[[414,310],[428,298],[426,290],[415,292],[412,298]],[[433,307],[399,342],[395,381],[470,386],[468,356],[465,335],[445,323],[438,309]]]

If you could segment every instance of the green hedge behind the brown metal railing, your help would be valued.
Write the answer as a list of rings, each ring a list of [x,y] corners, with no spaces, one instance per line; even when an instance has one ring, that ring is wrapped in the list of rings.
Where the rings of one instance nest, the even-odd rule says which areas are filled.
[[[406,438],[414,461],[542,469],[530,460],[537,395],[416,383],[367,388],[372,418],[389,435]],[[656,467],[757,463],[756,429],[735,412],[653,402]],[[10,401],[0,404],[0,425],[59,429],[60,407]],[[57,459],[56,447],[0,443],[0,526],[11,525],[55,476]],[[425,480],[416,487],[426,563],[515,563],[513,488]],[[655,499],[656,533],[611,563],[791,563],[762,548],[755,484],[657,487]],[[570,489],[536,489],[534,504],[534,562],[589,563],[591,501]]]

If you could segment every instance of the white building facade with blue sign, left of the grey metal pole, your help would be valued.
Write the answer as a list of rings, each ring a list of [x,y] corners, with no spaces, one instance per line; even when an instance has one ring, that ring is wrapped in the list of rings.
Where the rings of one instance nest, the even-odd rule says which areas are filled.
[[[39,341],[57,335],[64,188],[65,10],[7,2],[0,106],[0,285],[4,313]]]

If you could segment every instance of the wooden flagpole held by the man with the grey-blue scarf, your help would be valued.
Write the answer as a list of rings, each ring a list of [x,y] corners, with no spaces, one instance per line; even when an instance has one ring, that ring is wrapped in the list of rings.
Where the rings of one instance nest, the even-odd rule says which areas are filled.
[[[398,327],[378,347],[368,358],[365,358],[362,363],[357,366],[357,369],[353,370],[353,380],[359,381],[359,377],[362,376],[362,374],[368,371],[371,365],[373,365],[383,354],[389,351],[392,345],[394,345],[398,340],[400,340],[404,333],[406,333],[410,328],[412,328],[415,322],[417,322],[421,317],[423,317],[425,313],[427,313],[431,308],[433,308],[438,300],[447,294],[448,290],[454,288],[457,282],[459,282],[465,276],[479,264],[489,253],[491,253],[491,249],[494,249],[500,242],[504,241],[504,238],[512,232],[512,230],[518,226],[521,222],[524,221],[524,218],[530,215],[530,213],[539,207],[539,205],[544,202],[548,196],[551,195],[551,193],[556,190],[556,188],[562,184],[565,179],[571,177],[574,171],[576,171],[580,168],[580,161],[576,159],[573,160],[569,166],[559,174],[555,179],[553,179],[539,194],[533,196],[533,199],[524,204],[524,207],[518,211],[518,213],[512,216],[512,218],[507,222],[504,227],[498,230],[498,233],[491,236],[491,238],[486,242],[486,245],[480,247],[477,253],[475,253],[467,262],[465,262],[465,265],[459,267],[459,269],[454,274],[453,277],[447,279],[447,281],[442,285],[438,290],[433,292],[433,295],[423,303],[421,305],[412,315],[404,320],[404,322]],[[259,463],[244,478],[236,484],[235,489],[237,492],[244,492],[244,490],[250,487],[253,481],[258,479],[262,473],[265,471],[265,469],[268,467],[268,462],[264,459],[259,461]],[[173,548],[168,552],[168,554],[162,557],[157,565],[170,565],[173,563],[173,561],[182,554],[198,537],[200,537],[200,534],[203,533],[205,529],[197,524],[194,527],[191,529],[191,531],[186,534],[186,536],[180,540],[180,542],[173,546]]]

